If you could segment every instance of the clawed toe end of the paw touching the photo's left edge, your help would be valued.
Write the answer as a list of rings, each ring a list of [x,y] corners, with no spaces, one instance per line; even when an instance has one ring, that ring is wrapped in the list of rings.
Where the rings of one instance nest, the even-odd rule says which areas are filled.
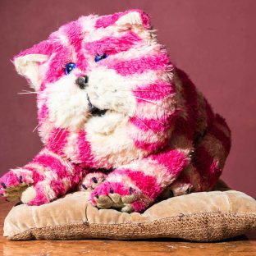
[[[33,174],[24,169],[13,169],[0,178],[0,194],[7,201],[21,199],[21,194],[33,184]]]

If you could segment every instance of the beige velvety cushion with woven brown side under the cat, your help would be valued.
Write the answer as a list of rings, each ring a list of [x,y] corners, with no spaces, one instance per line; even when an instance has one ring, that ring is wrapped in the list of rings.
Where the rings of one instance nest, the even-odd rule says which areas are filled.
[[[71,240],[155,237],[215,241],[256,227],[256,202],[235,190],[182,195],[154,204],[144,213],[94,208],[76,192],[42,206],[17,205],[4,223],[9,240]]]

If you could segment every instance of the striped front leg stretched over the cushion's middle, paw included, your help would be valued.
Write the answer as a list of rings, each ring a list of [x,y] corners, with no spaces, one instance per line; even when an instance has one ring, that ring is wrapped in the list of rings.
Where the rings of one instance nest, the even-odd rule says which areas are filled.
[[[90,200],[98,208],[142,212],[176,180],[189,162],[190,158],[178,149],[166,149],[130,162],[109,173],[91,193]]]

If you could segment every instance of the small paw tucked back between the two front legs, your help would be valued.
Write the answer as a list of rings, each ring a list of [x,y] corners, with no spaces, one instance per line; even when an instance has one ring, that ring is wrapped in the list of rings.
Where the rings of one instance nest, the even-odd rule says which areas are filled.
[[[90,172],[80,182],[79,190],[94,190],[98,185],[100,185],[105,180],[106,177],[107,175],[104,174],[103,172]]]

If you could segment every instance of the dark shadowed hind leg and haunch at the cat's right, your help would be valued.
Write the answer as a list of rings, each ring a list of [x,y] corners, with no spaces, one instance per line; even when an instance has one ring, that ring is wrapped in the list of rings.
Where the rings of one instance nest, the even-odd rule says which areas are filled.
[[[226,158],[231,149],[231,130],[226,121],[215,116],[213,125],[199,140],[189,167],[164,190],[159,199],[171,196],[213,190],[222,174]]]

